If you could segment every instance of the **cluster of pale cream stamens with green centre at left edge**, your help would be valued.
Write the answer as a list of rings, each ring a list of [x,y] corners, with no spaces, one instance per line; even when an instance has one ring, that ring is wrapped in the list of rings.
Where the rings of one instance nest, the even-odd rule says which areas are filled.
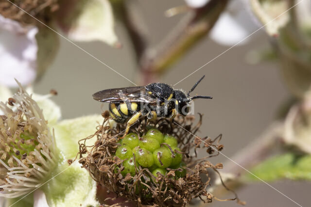
[[[55,166],[55,141],[42,110],[20,86],[11,105],[0,102],[0,196],[16,198],[39,187]]]

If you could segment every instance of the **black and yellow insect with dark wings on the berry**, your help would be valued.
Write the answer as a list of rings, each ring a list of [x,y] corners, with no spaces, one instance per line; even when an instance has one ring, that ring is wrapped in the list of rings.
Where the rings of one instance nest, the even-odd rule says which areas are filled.
[[[148,119],[174,118],[177,113],[186,116],[190,101],[197,98],[211,99],[211,96],[190,97],[190,93],[204,77],[187,94],[182,90],[174,90],[165,83],[151,83],[145,86],[106,89],[92,96],[97,101],[109,103],[109,114],[116,122],[127,122],[125,136],[141,115],[146,115]]]

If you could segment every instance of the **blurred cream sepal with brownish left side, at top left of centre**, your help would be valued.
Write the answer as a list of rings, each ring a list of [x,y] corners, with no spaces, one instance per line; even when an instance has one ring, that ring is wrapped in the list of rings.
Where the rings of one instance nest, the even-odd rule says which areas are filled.
[[[63,18],[58,22],[70,39],[117,44],[112,7],[108,0],[79,0],[71,4],[70,9],[61,11]]]

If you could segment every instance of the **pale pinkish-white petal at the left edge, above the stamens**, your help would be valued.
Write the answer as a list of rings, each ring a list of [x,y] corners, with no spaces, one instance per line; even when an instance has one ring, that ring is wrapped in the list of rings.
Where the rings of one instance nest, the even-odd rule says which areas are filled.
[[[35,80],[37,44],[36,27],[23,27],[0,15],[0,84],[17,86]]]

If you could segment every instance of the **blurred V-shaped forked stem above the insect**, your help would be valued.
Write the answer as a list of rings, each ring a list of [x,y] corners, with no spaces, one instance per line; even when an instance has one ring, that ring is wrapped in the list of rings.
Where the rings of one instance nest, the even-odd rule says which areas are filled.
[[[225,10],[228,0],[210,0],[204,7],[188,8],[189,14],[159,43],[150,48],[146,38],[142,17],[139,16],[135,0],[119,1],[115,10],[121,18],[133,43],[140,70],[141,84],[155,82],[158,75],[182,57],[205,37]]]

